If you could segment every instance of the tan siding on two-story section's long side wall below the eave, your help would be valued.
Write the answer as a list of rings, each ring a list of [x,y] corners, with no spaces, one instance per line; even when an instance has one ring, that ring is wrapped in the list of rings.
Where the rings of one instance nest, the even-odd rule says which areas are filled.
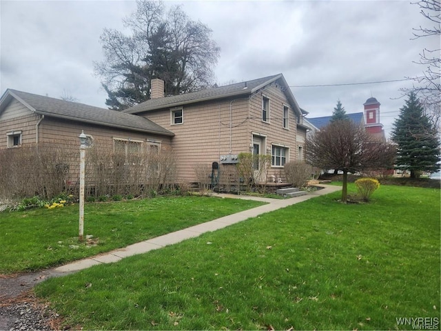
[[[219,162],[220,155],[249,152],[249,99],[226,99],[183,107],[183,123],[172,125],[170,108],[148,112],[144,116],[174,132],[172,146],[178,162],[178,177],[194,181],[198,164]],[[230,136],[230,104],[232,121]]]

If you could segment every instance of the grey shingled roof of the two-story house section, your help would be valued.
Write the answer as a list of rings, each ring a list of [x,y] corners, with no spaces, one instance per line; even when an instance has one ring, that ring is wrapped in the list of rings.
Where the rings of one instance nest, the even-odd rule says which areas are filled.
[[[243,81],[227,86],[220,86],[218,88],[208,88],[206,90],[201,90],[197,92],[189,92],[185,94],[172,95],[170,97],[151,99],[144,101],[143,103],[139,103],[139,105],[133,106],[132,108],[125,109],[123,110],[123,112],[127,112],[129,114],[139,114],[141,112],[147,112],[149,110],[183,106],[189,103],[209,101],[225,97],[238,97],[240,95],[248,95],[260,90],[260,88],[263,88],[264,86],[278,79],[280,79],[280,83],[285,87],[289,101],[291,101],[293,105],[296,105],[296,108],[298,108],[298,110],[302,112],[302,110],[300,110],[300,107],[298,107],[298,104],[294,99],[294,96],[289,89],[289,86],[287,85],[283,74],[275,74],[273,76],[254,79],[252,81]]]

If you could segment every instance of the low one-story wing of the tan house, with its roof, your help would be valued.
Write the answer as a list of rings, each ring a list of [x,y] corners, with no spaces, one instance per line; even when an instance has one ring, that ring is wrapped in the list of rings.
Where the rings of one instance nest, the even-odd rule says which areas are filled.
[[[81,130],[111,146],[124,141],[170,145],[174,136],[148,119],[83,103],[11,89],[0,99],[0,150],[42,143],[77,148]]]

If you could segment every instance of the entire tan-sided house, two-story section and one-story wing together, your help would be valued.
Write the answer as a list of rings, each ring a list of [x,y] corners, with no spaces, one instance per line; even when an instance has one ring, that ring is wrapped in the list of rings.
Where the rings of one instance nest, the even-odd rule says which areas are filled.
[[[306,112],[283,74],[170,97],[163,91],[154,79],[152,99],[116,112],[8,89],[0,99],[0,150],[50,142],[78,148],[83,130],[114,150],[129,142],[135,151],[170,146],[178,180],[188,182],[198,164],[217,163],[227,173],[241,152],[271,155],[266,178],[256,181],[281,177],[285,163],[302,159]]]

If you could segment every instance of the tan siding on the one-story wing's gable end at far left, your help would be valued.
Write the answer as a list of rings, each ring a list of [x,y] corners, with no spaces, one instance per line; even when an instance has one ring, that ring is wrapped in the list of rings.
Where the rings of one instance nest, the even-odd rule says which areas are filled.
[[[0,114],[0,150],[8,147],[8,136],[11,131],[21,131],[21,144],[35,143],[35,128],[39,115],[34,114],[18,101],[12,101]]]

